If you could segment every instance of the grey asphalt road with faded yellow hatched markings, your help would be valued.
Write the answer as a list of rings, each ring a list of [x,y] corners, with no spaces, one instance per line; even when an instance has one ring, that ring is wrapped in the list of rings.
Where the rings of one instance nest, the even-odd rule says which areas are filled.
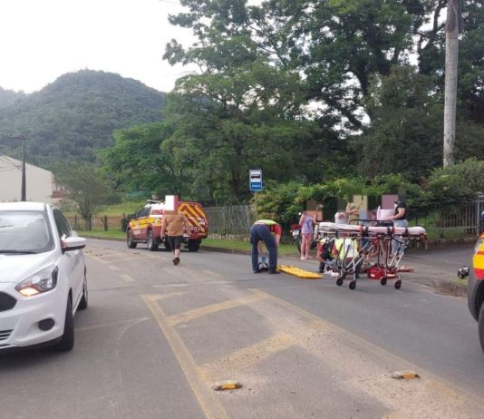
[[[414,253],[402,289],[251,273],[247,256],[89,240],[70,354],[0,357],[6,418],[482,417],[484,356],[461,297],[425,283],[471,248]],[[288,258],[303,268],[314,261]],[[407,263],[408,262],[408,263]],[[420,379],[399,381],[392,371]],[[228,392],[218,380],[239,380]]]

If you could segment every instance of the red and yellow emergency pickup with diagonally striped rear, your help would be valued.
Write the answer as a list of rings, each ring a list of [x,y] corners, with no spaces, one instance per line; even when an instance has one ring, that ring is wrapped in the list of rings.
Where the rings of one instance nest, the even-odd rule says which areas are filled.
[[[183,237],[183,243],[186,244],[190,252],[196,252],[200,247],[201,240],[208,237],[207,216],[198,202],[180,201],[179,210],[185,214],[191,226],[189,233]],[[131,217],[126,229],[128,248],[136,248],[138,243],[146,243],[148,249],[152,251],[163,243],[165,248],[170,249],[166,237],[160,237],[164,211],[164,202],[150,200]]]

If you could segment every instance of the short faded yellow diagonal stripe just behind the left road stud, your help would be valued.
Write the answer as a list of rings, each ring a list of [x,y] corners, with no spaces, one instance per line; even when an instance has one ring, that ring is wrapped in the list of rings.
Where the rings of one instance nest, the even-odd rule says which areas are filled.
[[[295,336],[288,334],[271,336],[252,346],[238,349],[215,363],[200,366],[198,373],[205,381],[218,381],[223,378],[219,376],[220,372],[226,376],[237,375],[241,370],[261,364],[270,356],[296,345]]]

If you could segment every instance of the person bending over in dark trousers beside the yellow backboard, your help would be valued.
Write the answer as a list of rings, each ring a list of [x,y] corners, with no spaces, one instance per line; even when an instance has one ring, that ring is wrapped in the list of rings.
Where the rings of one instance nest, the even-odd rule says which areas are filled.
[[[263,241],[269,253],[269,274],[278,274],[277,248],[281,241],[282,228],[272,219],[258,219],[250,228],[250,244],[252,245],[252,270],[255,274],[259,269],[258,243]]]

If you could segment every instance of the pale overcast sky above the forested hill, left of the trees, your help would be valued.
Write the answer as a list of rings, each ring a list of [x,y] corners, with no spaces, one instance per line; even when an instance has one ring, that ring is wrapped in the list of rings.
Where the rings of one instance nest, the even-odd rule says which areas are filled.
[[[162,59],[177,0],[0,0],[0,87],[32,93],[63,73],[119,73],[169,92],[185,67]]]

